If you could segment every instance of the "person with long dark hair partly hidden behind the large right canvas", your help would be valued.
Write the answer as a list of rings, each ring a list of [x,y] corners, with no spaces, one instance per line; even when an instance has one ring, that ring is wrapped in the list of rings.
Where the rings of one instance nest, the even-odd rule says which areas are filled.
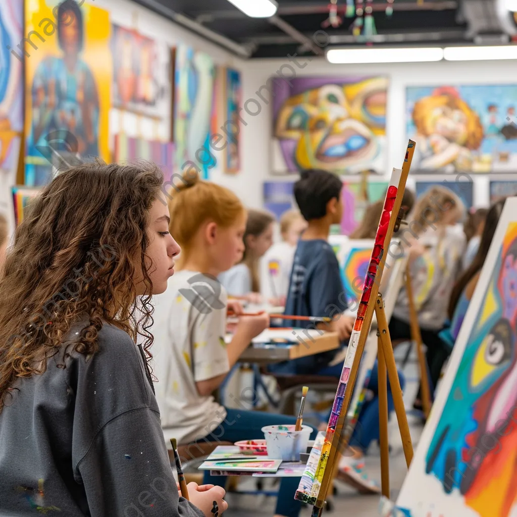
[[[486,255],[488,254],[490,245],[492,244],[492,239],[494,237],[495,230],[497,229],[499,217],[503,211],[503,207],[505,206],[505,201],[506,199],[497,201],[488,210],[483,224],[483,233],[481,234],[478,252],[476,253],[472,263],[470,263],[466,271],[463,272],[452,289],[448,309],[450,327],[440,332],[440,338],[442,338],[451,348],[454,346],[454,342],[458,338],[461,325],[465,319],[470,299],[476,289],[479,275],[481,275],[481,268],[486,260]]]

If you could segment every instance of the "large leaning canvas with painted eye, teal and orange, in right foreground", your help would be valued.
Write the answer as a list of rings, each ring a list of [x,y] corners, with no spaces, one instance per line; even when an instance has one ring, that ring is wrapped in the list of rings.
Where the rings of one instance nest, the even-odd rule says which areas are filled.
[[[508,199],[397,507],[517,512],[517,200]]]

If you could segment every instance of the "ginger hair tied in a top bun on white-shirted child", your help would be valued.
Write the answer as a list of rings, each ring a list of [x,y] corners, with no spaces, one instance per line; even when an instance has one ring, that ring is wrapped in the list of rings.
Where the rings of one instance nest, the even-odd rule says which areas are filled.
[[[169,231],[181,246],[181,255],[185,257],[191,251],[197,230],[205,221],[229,227],[246,214],[246,209],[239,198],[225,187],[202,181],[198,175],[184,175],[181,180],[183,184],[171,189]]]

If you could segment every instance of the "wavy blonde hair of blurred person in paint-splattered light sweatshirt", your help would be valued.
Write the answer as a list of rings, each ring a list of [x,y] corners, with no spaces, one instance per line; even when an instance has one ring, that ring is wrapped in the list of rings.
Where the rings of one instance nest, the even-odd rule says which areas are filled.
[[[450,208],[445,208],[447,205],[451,205]],[[425,191],[417,199],[410,220],[418,222],[417,226],[421,231],[425,231],[430,224],[441,222],[444,213],[448,210],[455,210],[458,212],[458,216],[462,217],[465,206],[452,190],[436,185]]]

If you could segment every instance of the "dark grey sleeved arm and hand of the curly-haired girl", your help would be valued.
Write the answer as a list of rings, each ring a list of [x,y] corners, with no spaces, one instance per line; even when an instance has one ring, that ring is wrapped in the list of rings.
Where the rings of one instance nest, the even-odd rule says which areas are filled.
[[[135,387],[136,388],[136,387]],[[213,501],[226,508],[224,490],[179,498],[158,412],[141,407],[123,413],[99,430],[78,470],[91,515],[213,517]]]

